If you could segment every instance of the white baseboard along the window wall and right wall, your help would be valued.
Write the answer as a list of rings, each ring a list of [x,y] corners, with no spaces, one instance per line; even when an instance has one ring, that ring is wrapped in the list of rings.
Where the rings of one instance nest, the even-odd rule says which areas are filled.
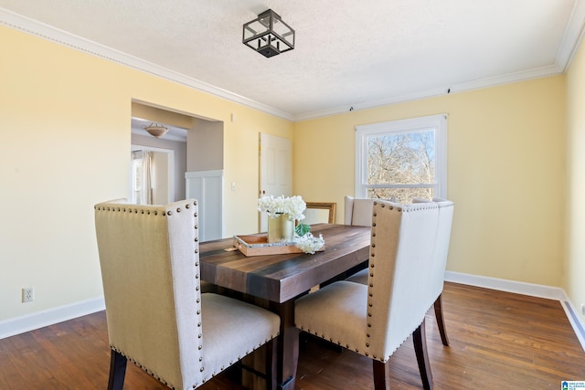
[[[452,271],[445,272],[445,281],[483,287],[485,289],[514,292],[516,294],[546,298],[548,300],[558,300],[569,319],[575,335],[579,339],[583,351],[585,351],[585,323],[583,323],[579,311],[575,309],[575,306],[569,300],[569,297],[564,290],[558,287],[543,286],[507,279],[488,278]]]

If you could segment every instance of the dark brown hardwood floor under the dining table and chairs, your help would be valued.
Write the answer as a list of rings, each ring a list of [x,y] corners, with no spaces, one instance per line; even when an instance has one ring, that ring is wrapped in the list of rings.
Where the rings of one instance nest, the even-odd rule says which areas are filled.
[[[585,381],[585,352],[556,300],[446,283],[443,305],[450,347],[432,311],[427,343],[435,389],[559,389]],[[0,389],[104,389],[110,350],[105,312],[0,340]],[[297,390],[372,389],[371,361],[304,341]],[[391,358],[391,387],[420,389],[412,341]],[[128,364],[125,389],[165,389]],[[219,375],[202,390],[243,389]]]

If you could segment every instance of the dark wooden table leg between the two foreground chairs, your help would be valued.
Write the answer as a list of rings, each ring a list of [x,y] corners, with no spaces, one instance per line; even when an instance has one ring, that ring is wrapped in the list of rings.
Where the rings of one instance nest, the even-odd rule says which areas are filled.
[[[278,343],[277,380],[279,390],[293,390],[299,361],[299,330],[294,327],[294,300],[277,304],[281,316],[281,337]]]

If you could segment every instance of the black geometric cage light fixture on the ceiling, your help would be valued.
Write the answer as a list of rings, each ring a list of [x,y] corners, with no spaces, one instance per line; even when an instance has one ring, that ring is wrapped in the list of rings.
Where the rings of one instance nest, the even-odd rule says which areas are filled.
[[[294,30],[269,9],[244,25],[242,43],[271,58],[294,48]]]

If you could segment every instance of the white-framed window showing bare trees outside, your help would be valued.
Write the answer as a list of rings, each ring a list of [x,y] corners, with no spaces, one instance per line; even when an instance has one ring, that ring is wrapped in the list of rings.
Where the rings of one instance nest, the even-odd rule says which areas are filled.
[[[356,197],[446,197],[446,115],[356,127]]]

